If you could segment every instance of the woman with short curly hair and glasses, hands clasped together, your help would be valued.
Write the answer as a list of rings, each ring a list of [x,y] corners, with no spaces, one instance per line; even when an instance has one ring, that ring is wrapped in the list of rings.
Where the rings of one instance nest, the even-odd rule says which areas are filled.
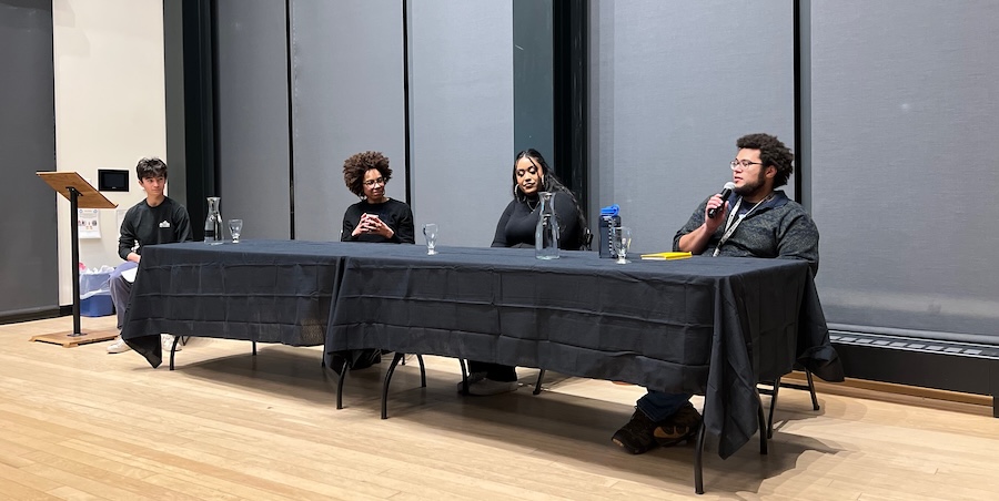
[[[341,241],[416,243],[410,206],[385,195],[391,178],[392,167],[381,152],[357,153],[343,162],[343,182],[361,202],[343,214]]]

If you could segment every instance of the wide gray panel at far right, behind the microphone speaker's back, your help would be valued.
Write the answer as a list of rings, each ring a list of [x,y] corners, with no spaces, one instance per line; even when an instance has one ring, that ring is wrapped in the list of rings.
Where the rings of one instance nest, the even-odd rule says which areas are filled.
[[[811,12],[827,318],[996,342],[999,2],[816,0]]]

